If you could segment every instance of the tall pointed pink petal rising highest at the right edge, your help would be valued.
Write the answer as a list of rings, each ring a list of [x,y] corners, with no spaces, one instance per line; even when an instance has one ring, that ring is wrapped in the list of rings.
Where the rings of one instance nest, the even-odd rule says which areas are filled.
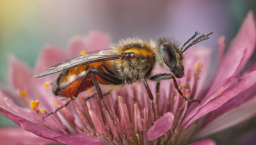
[[[214,88],[220,86],[223,80],[237,75],[243,69],[255,50],[255,33],[255,19],[253,12],[249,11],[236,38],[232,41],[227,55],[221,61],[219,70],[214,78],[215,81],[208,94],[211,94]]]

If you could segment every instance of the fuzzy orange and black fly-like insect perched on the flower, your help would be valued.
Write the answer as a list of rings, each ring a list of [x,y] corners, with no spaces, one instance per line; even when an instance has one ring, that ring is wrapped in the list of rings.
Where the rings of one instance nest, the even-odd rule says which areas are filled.
[[[175,89],[179,92],[185,100],[191,102],[199,102],[199,100],[188,99],[179,90],[179,86],[175,78],[182,78],[184,76],[184,55],[183,53],[192,45],[205,39],[209,39],[207,34],[195,34],[179,47],[170,39],[162,38],[154,43],[147,42],[138,38],[122,39],[117,44],[110,46],[109,50],[102,50],[100,52],[88,53],[79,57],[64,60],[55,64],[49,69],[40,72],[34,76],[39,78],[47,76],[56,72],[61,72],[58,78],[52,85],[52,92],[54,95],[68,97],[70,100],[63,106],[56,109],[56,111],[45,114],[43,118],[56,113],[61,108],[67,106],[71,100],[75,100],[77,95],[92,86],[95,86],[100,102],[108,112],[113,124],[114,118],[111,115],[108,106],[103,100],[104,94],[100,89],[99,84],[108,86],[113,85],[129,85],[135,81],[143,82],[147,90],[148,97],[151,102],[152,112],[154,114],[154,121],[156,121],[156,111],[154,107],[154,98],[148,87],[147,80],[157,81],[157,92],[159,92],[159,84],[161,80],[172,79]],[[191,41],[191,43],[189,43]],[[189,43],[189,45],[188,45]],[[160,73],[150,76],[154,70],[154,66],[159,63],[162,67],[169,69],[172,73]],[[111,90],[111,89],[110,89]]]

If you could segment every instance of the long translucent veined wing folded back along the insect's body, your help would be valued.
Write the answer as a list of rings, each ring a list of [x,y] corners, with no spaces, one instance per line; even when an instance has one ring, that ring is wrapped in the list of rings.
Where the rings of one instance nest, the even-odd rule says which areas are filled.
[[[56,72],[64,71],[66,69],[70,69],[76,66],[82,66],[84,64],[91,64],[93,62],[101,62],[105,60],[114,60],[114,59],[121,59],[123,53],[116,53],[113,49],[112,50],[102,50],[100,52],[92,52],[85,55],[81,55],[79,57],[74,57],[72,59],[67,59],[54,66],[49,67],[45,71],[40,72],[34,78],[39,78],[42,76],[47,76],[49,74],[53,74]]]

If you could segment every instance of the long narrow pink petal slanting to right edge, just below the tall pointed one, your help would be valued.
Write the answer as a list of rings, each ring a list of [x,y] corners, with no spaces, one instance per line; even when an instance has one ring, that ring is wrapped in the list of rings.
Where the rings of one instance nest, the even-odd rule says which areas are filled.
[[[193,123],[193,121],[197,120],[198,118],[204,116],[211,111],[218,109],[218,107],[222,106],[228,100],[236,97],[239,93],[248,90],[256,83],[256,71],[253,71],[251,74],[246,76],[242,81],[237,83],[236,85],[228,88],[224,92],[222,92],[218,97],[214,97],[209,102],[203,102],[199,106],[196,106],[191,113],[185,118],[184,123],[187,123],[186,126]],[[195,115],[193,115],[195,114]],[[191,117],[192,116],[192,117]],[[187,122],[188,121],[188,122]]]

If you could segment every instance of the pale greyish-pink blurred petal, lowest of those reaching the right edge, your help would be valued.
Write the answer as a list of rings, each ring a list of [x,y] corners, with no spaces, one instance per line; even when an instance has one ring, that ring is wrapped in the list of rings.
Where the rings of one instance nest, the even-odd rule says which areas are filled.
[[[243,96],[243,95],[241,95]],[[248,100],[244,104],[235,109],[225,112],[218,118],[215,118],[210,123],[208,123],[204,128],[202,128],[195,135],[195,139],[204,137],[206,135],[219,132],[229,127],[233,127],[245,120],[249,120],[256,114],[256,96]]]

